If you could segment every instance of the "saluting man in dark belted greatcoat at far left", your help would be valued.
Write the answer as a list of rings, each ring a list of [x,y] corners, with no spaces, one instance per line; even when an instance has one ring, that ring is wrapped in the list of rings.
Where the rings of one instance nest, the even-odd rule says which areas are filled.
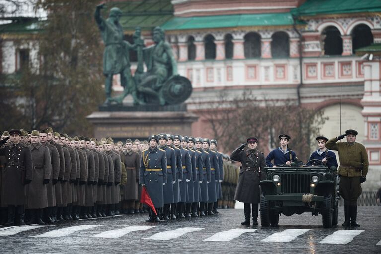
[[[24,205],[26,203],[25,185],[33,178],[32,153],[20,143],[20,130],[10,130],[11,144],[0,148],[0,155],[5,155],[5,167],[2,175],[2,201],[8,206],[8,221],[13,225],[17,207],[19,225],[25,225]]]

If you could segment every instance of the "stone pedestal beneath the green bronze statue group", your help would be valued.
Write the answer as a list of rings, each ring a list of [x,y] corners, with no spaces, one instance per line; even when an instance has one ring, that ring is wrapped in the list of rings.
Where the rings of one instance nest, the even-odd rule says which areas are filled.
[[[146,111],[134,111],[144,109]],[[94,126],[94,136],[112,137],[114,141],[123,142],[130,138],[146,140],[151,134],[171,133],[191,135],[191,125],[198,116],[180,106],[167,108],[155,106],[156,111],[139,107],[100,107],[99,111],[87,116]],[[171,111],[165,111],[171,109]],[[175,111],[173,111],[175,110]],[[177,110],[177,111],[176,111]]]

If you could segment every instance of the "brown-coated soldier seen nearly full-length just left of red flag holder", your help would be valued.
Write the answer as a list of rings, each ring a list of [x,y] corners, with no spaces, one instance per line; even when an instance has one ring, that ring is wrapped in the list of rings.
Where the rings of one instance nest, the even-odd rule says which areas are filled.
[[[138,200],[140,154],[132,150],[132,140],[127,139],[126,150],[121,154],[127,171],[127,183],[124,186],[123,208],[128,214],[134,214],[135,200]]]

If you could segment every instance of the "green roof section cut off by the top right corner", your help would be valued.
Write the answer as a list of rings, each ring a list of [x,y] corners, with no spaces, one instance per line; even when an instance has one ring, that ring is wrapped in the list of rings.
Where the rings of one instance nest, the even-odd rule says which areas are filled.
[[[292,12],[299,16],[381,12],[381,0],[307,0]]]

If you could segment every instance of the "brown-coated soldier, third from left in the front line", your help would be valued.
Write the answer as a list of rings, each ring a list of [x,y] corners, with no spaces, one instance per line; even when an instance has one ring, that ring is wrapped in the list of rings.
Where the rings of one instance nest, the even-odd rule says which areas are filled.
[[[44,209],[44,222],[54,223],[54,220],[52,219],[52,209],[56,206],[56,188],[54,185],[58,182],[58,175],[60,172],[60,154],[58,153],[57,148],[48,142],[48,133],[46,130],[40,131],[40,142],[42,145],[49,148],[50,160],[52,162],[50,182],[46,185],[48,207]]]

